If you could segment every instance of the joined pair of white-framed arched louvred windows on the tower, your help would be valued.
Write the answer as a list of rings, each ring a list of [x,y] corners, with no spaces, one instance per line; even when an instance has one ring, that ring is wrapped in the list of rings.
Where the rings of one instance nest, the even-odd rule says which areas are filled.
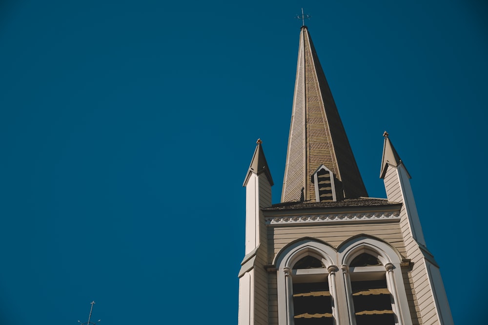
[[[367,236],[338,250],[312,238],[288,245],[273,261],[278,324],[411,325],[400,261],[396,250]]]

